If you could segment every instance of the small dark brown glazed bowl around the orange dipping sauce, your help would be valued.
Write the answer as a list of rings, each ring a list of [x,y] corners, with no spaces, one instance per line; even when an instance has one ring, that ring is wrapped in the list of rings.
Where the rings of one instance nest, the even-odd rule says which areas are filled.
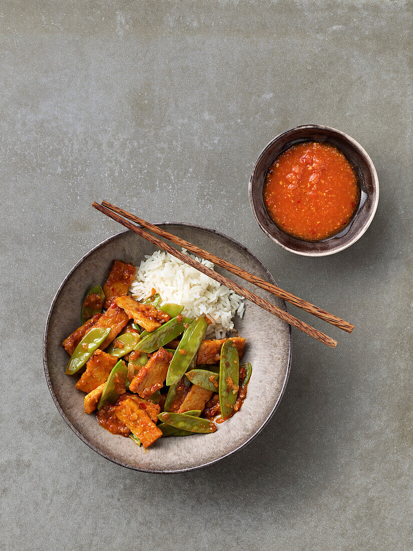
[[[338,148],[354,166],[361,188],[360,204],[351,222],[340,233],[322,241],[303,241],[284,233],[271,220],[264,205],[263,187],[271,163],[286,149],[302,142],[324,142]],[[276,244],[297,255],[324,256],[343,251],[365,233],[377,209],[379,183],[372,160],[355,139],[335,128],[306,125],[279,134],[265,147],[252,169],[248,195],[259,227]]]

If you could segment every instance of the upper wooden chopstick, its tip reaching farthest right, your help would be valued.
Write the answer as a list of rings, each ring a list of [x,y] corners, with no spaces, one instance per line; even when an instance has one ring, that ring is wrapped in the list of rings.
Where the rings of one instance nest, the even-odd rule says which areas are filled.
[[[354,329],[354,325],[351,325],[351,323],[349,323],[348,321],[342,320],[341,318],[334,316],[334,314],[330,314],[329,312],[322,310],[318,306],[311,304],[311,302],[300,299],[300,297],[295,296],[288,291],[285,291],[284,289],[281,289],[277,285],[274,285],[273,283],[268,283],[264,279],[261,279],[258,276],[254,276],[254,274],[252,274],[251,272],[247,272],[246,270],[235,266],[235,264],[231,264],[226,260],[222,260],[222,258],[219,258],[218,256],[215,256],[208,251],[204,251],[203,249],[200,249],[200,247],[192,245],[192,243],[189,243],[181,237],[172,235],[168,231],[162,230],[158,226],[150,224],[149,222],[146,222],[146,220],[143,220],[142,218],[139,218],[134,214],[127,212],[126,210],[116,207],[116,205],[108,203],[107,201],[102,201],[102,205],[112,210],[113,212],[120,214],[124,218],[132,220],[132,222],[136,222],[147,230],[153,231],[154,234],[160,235],[161,237],[164,237],[164,239],[172,241],[172,243],[175,243],[176,245],[179,245],[184,249],[195,253],[195,255],[205,258],[205,260],[209,260],[210,262],[213,262],[217,266],[220,266],[221,268],[224,268],[227,271],[233,273],[235,276],[238,276],[245,281],[248,281],[249,283],[253,283],[254,285],[257,285],[257,287],[260,287],[265,291],[269,291],[269,293],[273,293],[273,295],[279,296],[280,299],[291,302],[291,304],[294,304],[302,310],[309,312],[309,314],[313,314],[314,316],[319,317],[321,320],[327,321],[327,323],[330,323],[331,325],[334,325],[339,329],[343,329],[343,331],[347,331],[347,333],[351,333]]]

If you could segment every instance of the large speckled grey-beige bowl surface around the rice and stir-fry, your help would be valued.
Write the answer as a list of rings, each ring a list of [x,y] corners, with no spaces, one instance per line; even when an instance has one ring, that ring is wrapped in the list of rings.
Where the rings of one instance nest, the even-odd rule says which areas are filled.
[[[238,242],[214,230],[189,224],[160,224],[167,231],[193,242],[221,258],[237,264],[273,283],[267,268]],[[240,412],[219,424],[214,434],[161,439],[144,450],[122,436],[102,429],[95,414],[84,412],[84,393],[76,390],[78,377],[64,374],[68,355],[61,342],[80,323],[80,309],[85,291],[104,283],[113,260],[139,265],[144,255],[154,247],[142,237],[124,231],[86,253],[64,278],[47,316],[44,335],[44,365],[47,384],[63,419],[91,449],[123,467],[150,473],[191,471],[215,463],[248,444],[275,412],[287,383],[291,361],[291,331],[289,325],[246,302],[242,320],[235,326],[247,339],[242,361],[253,366],[248,396]],[[253,285],[233,276],[251,290]],[[285,302],[274,295],[260,294],[285,309]]]

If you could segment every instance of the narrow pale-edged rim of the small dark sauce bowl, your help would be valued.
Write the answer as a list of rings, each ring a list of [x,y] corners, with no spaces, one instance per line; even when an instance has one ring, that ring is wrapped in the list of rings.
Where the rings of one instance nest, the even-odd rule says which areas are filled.
[[[328,251],[297,251],[296,249],[293,249],[292,247],[284,245],[274,235],[270,234],[269,231],[267,231],[262,226],[262,224],[260,223],[260,221],[258,219],[258,215],[257,215],[257,212],[256,212],[256,207],[255,207],[254,200],[253,200],[252,188],[253,188],[253,179],[254,179],[254,176],[255,176],[254,172],[256,171],[258,161],[261,159],[262,155],[267,151],[268,148],[271,147],[271,145],[273,145],[276,141],[278,141],[282,136],[285,136],[285,134],[289,134],[292,131],[303,130],[303,129],[317,129],[317,130],[322,130],[322,131],[325,131],[325,130],[332,131],[332,132],[338,134],[340,137],[346,139],[350,143],[350,145],[354,149],[358,150],[358,152],[365,158],[366,163],[368,165],[368,169],[369,169],[369,171],[371,172],[371,175],[372,175],[372,181],[373,181],[372,196],[373,196],[373,199],[374,199],[372,212],[369,214],[368,218],[366,219],[366,222],[360,228],[358,233],[349,242],[347,242],[343,245],[337,245],[335,247],[335,249],[333,249],[333,250],[328,250]],[[277,136],[275,136],[275,138],[271,139],[271,141],[268,142],[267,145],[265,145],[262,152],[258,155],[257,160],[254,163],[254,166],[252,168],[251,176],[249,177],[248,198],[249,198],[249,204],[251,206],[252,213],[254,215],[254,218],[256,219],[256,222],[257,222],[259,228],[264,232],[265,235],[267,235],[277,245],[279,245],[280,247],[282,247],[286,251],[294,252],[296,255],[301,255],[301,256],[328,256],[328,255],[334,255],[336,252],[344,251],[344,249],[347,249],[347,247],[350,247],[356,241],[358,241],[358,239],[360,239],[360,237],[366,232],[366,230],[368,229],[368,226],[372,223],[372,220],[374,218],[374,214],[376,214],[378,199],[379,199],[379,181],[378,181],[376,167],[374,166],[373,161],[371,160],[370,156],[368,155],[366,150],[362,147],[362,145],[360,145],[360,143],[358,143],[354,138],[349,136],[349,134],[346,134],[345,132],[342,132],[341,130],[338,130],[337,128],[333,128],[331,126],[300,125],[300,126],[295,126],[294,128],[290,128],[289,130],[286,130],[284,132],[281,132],[280,134],[277,134]]]

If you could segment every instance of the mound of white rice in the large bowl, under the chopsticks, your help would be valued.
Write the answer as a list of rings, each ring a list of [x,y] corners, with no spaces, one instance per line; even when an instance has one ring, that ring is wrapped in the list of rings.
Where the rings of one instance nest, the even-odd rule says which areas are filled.
[[[187,253],[185,249],[182,252]],[[212,262],[189,256],[214,269]],[[184,316],[208,316],[213,323],[208,325],[206,337],[224,338],[227,332],[235,331],[233,316],[244,313],[242,296],[164,251],[145,255],[129,291],[142,300],[152,289],[161,295],[162,302],[181,304]]]

